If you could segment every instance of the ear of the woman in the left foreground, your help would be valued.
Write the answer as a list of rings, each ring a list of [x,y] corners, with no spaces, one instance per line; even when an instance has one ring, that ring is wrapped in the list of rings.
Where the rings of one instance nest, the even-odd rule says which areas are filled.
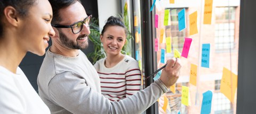
[[[7,6],[4,8],[4,16],[11,25],[17,27],[19,24],[18,21],[18,12],[12,6]]]

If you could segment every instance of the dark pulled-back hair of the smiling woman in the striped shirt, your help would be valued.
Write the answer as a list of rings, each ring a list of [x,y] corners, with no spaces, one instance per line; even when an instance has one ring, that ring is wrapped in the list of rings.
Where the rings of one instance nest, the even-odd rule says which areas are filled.
[[[126,29],[125,24],[122,21],[122,19],[119,17],[110,16],[110,17],[108,17],[108,20],[107,20],[106,24],[104,25],[103,30],[101,31],[101,34],[103,34],[107,30],[107,28],[110,26],[122,27],[125,30],[125,34],[127,33],[127,29]]]

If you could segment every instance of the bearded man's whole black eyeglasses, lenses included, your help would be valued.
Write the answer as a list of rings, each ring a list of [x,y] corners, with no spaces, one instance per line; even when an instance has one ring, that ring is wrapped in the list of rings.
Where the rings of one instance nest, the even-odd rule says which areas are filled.
[[[74,34],[79,33],[83,29],[83,24],[90,27],[92,15],[87,16],[83,21],[78,21],[71,25],[60,25],[60,24],[52,24],[52,27],[55,28],[71,28]]]

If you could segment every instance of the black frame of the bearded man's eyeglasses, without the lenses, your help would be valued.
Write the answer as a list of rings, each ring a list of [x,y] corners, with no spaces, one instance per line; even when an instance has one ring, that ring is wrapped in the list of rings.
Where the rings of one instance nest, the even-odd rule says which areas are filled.
[[[90,17],[90,18],[89,18]],[[90,19],[89,20],[89,23],[88,23],[88,26],[87,27],[90,27],[90,24],[91,24],[91,18],[92,18],[92,15],[89,15],[89,16],[87,16],[83,21],[78,21],[78,22],[75,22],[75,23],[73,23],[73,24],[71,24],[71,25],[60,25],[60,24],[51,24],[52,25],[52,27],[55,27],[55,28],[71,28],[71,30],[72,30],[72,32],[74,33],[74,34],[77,34],[77,33],[79,33],[79,32],[81,32],[82,30],[83,30],[83,26],[84,26],[84,24],[86,25],[86,23],[84,22],[86,19]],[[77,33],[75,33],[74,32],[74,30],[73,30],[73,26],[75,25],[75,24],[77,24],[77,23],[80,23],[80,22],[82,22],[82,24],[81,24],[81,29],[77,32]]]

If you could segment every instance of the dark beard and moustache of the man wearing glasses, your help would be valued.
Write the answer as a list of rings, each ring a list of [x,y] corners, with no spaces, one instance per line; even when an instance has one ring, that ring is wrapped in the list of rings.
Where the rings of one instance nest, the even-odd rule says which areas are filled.
[[[68,39],[68,37],[65,34],[63,34],[61,31],[59,31],[59,34],[60,34],[60,41],[61,41],[62,45],[66,46],[68,48],[71,48],[71,49],[86,49],[89,45],[88,39],[87,39],[86,42],[78,44],[78,42],[74,42],[74,41]],[[85,37],[87,37],[86,34],[84,34],[82,36],[78,36],[77,39],[78,38],[85,38]]]

